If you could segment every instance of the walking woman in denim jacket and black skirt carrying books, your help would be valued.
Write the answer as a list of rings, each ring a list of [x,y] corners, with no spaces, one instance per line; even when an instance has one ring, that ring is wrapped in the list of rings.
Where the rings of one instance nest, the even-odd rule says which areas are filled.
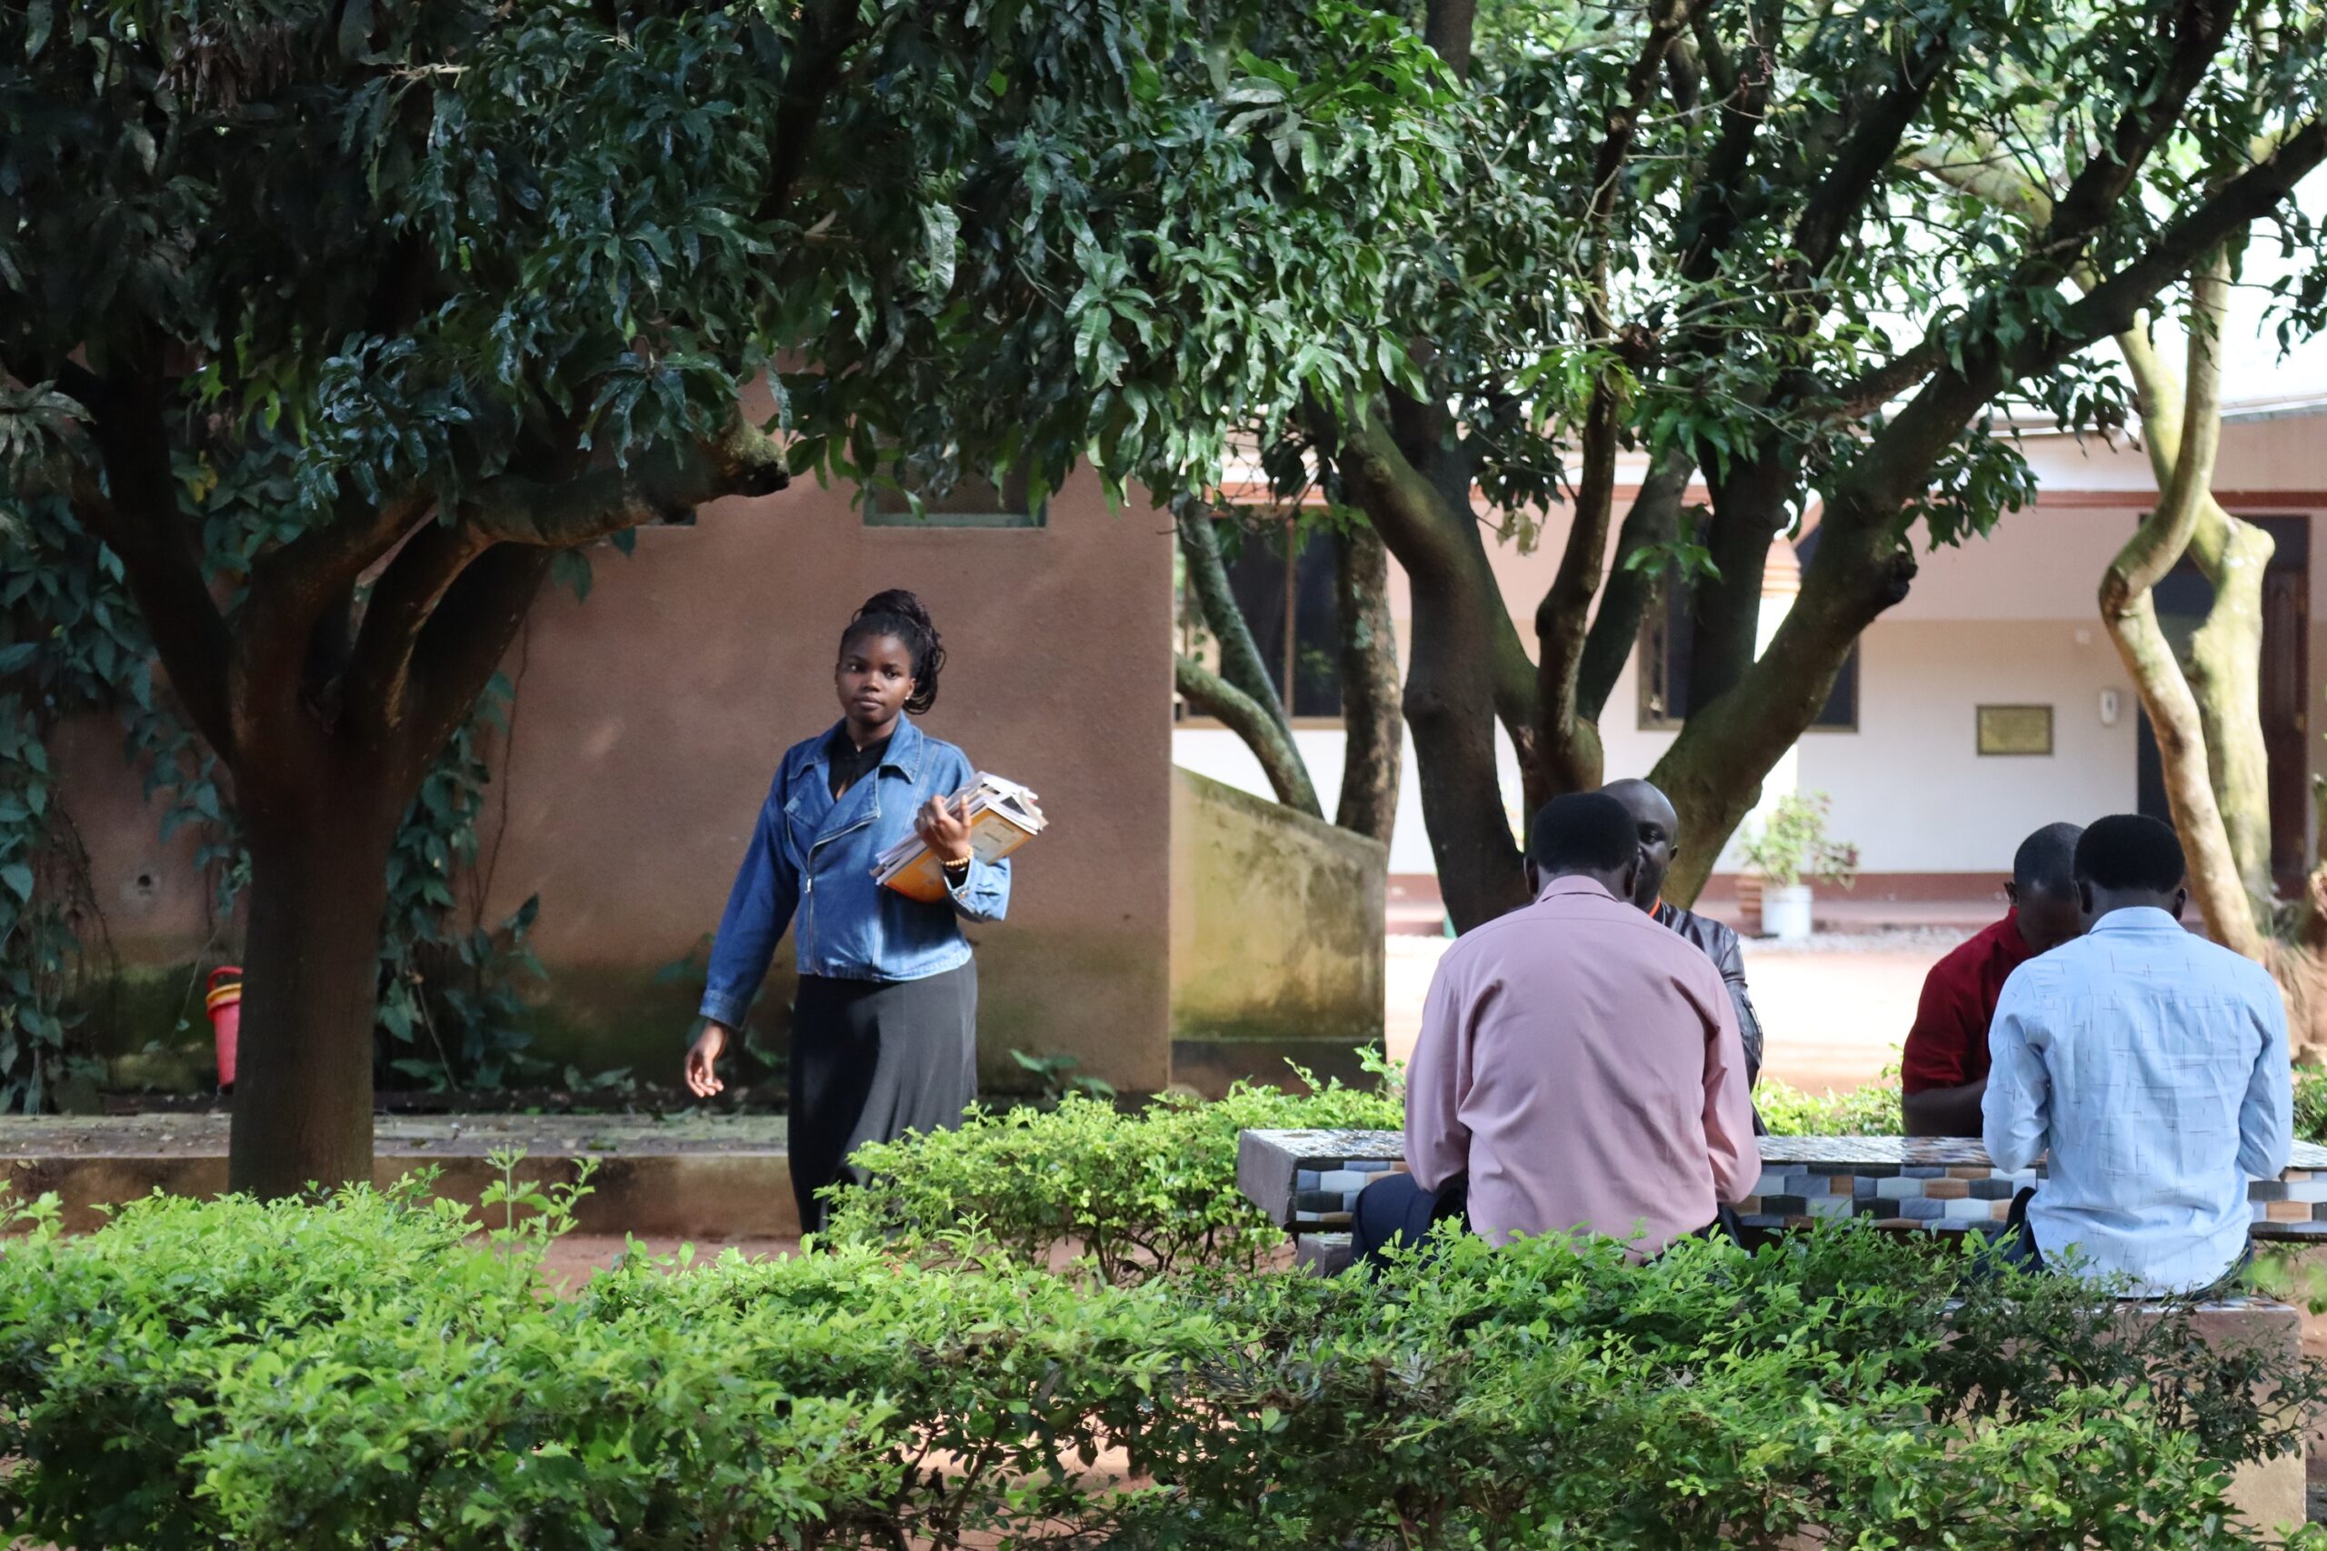
[[[908,712],[938,702],[945,646],[905,591],[856,609],[833,684],[840,723],[794,744],[719,916],[703,1032],[686,1086],[719,1093],[721,1051],[787,925],[800,991],[791,1018],[791,1193],[800,1230],[821,1232],[819,1191],[861,1184],[849,1153],[908,1130],[952,1130],[977,1098],[977,963],[963,921],[1001,921],[1010,863],[970,856],[968,814],[949,807],[975,767]],[[908,900],[873,881],[905,835],[945,863],[947,898]]]

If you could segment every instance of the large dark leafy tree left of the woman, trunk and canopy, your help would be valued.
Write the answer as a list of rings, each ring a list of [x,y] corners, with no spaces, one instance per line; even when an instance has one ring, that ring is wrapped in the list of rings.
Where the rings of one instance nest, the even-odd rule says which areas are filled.
[[[1375,370],[1440,93],[1338,0],[0,5],[9,498],[233,770],[235,1184],[365,1167],[349,879],[554,556],[805,472],[1203,484]]]

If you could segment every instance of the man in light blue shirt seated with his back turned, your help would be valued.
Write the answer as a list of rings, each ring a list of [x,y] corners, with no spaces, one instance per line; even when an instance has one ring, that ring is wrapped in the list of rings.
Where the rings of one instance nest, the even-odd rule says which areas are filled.
[[[2015,1253],[2076,1251],[2141,1295],[2213,1288],[2248,1253],[2246,1181],[2294,1149],[2285,1002],[2262,965],[2180,928],[2164,823],[2085,830],[2076,891],[2085,935],[2013,970],[1987,1030],[1987,1156],[2048,1158],[2013,1202]]]

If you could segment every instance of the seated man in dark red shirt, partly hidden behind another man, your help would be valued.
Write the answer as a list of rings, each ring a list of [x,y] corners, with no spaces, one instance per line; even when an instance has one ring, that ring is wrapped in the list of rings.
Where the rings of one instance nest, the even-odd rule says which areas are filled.
[[[2013,881],[2004,886],[2013,907],[1931,965],[1899,1060],[1906,1135],[1980,1135],[1987,1023],[1997,1016],[2004,981],[2029,958],[2085,935],[2073,877],[2076,839],[2083,832],[2073,823],[2048,823],[2022,839],[2013,856]]]

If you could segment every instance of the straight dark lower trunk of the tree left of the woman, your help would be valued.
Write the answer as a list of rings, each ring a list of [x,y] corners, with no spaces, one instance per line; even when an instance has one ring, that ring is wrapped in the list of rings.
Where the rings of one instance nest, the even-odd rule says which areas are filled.
[[[372,1018],[400,798],[251,800],[242,1049],[226,1181],[261,1198],[372,1177]]]

